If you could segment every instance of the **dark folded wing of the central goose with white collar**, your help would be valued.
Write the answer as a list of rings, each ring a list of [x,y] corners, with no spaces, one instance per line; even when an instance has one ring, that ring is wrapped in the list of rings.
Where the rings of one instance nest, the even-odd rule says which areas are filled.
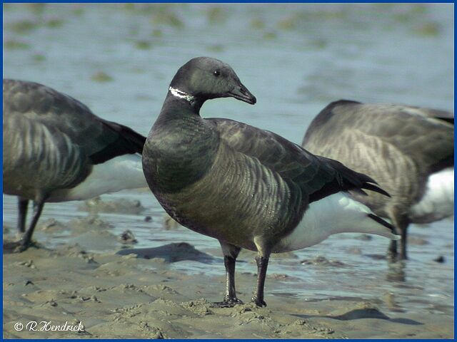
[[[298,187],[308,202],[333,193],[363,189],[386,192],[373,185],[374,181],[349,170],[336,160],[312,155],[302,147],[275,133],[254,128],[229,119],[208,119],[219,132],[221,140],[233,150],[276,172],[290,187]]]

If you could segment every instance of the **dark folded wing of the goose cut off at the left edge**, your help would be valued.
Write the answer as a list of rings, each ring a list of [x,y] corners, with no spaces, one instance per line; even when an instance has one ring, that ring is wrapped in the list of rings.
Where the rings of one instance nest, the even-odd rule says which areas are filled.
[[[51,133],[64,134],[74,145],[82,147],[93,164],[143,150],[144,136],[97,117],[79,100],[52,88],[34,82],[4,80],[3,94],[4,120],[5,116],[6,120],[20,116],[22,120],[45,125]]]

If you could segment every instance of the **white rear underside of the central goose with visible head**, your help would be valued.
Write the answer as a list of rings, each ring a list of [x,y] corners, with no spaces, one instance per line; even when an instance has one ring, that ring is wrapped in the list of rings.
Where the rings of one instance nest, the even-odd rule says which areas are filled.
[[[338,192],[310,204],[298,226],[273,248],[273,252],[290,252],[322,242],[331,234],[366,233],[399,239],[390,229],[367,214],[371,210],[345,192]]]

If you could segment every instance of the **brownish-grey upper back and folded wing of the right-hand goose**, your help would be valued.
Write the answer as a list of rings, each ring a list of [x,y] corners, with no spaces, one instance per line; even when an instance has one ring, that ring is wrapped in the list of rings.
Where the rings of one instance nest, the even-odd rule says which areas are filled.
[[[453,113],[340,100],[314,118],[302,145],[314,153],[346,160],[361,144],[377,151],[372,157],[401,156],[421,173],[437,172],[453,166]]]

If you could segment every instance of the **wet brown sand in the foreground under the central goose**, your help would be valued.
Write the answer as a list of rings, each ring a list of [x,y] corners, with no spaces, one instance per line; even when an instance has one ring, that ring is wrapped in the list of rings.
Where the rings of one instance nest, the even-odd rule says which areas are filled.
[[[68,224],[48,220],[38,229],[53,235],[67,228],[68,243],[55,249],[4,249],[5,338],[453,338],[452,318],[396,310],[388,294],[307,301],[279,295],[287,274],[268,274],[268,306],[257,308],[249,303],[256,275],[238,272],[238,296],[246,304],[214,309],[210,304],[223,297],[224,275],[189,275],[170,267],[182,260],[211,267],[220,261],[214,256],[185,242],[136,249],[134,240],[115,236],[93,216]],[[14,229],[5,227],[4,246],[11,239]],[[101,252],[87,252],[92,246]],[[325,258],[303,262],[344,266]],[[15,330],[15,323],[29,321],[81,322],[84,331]]]

